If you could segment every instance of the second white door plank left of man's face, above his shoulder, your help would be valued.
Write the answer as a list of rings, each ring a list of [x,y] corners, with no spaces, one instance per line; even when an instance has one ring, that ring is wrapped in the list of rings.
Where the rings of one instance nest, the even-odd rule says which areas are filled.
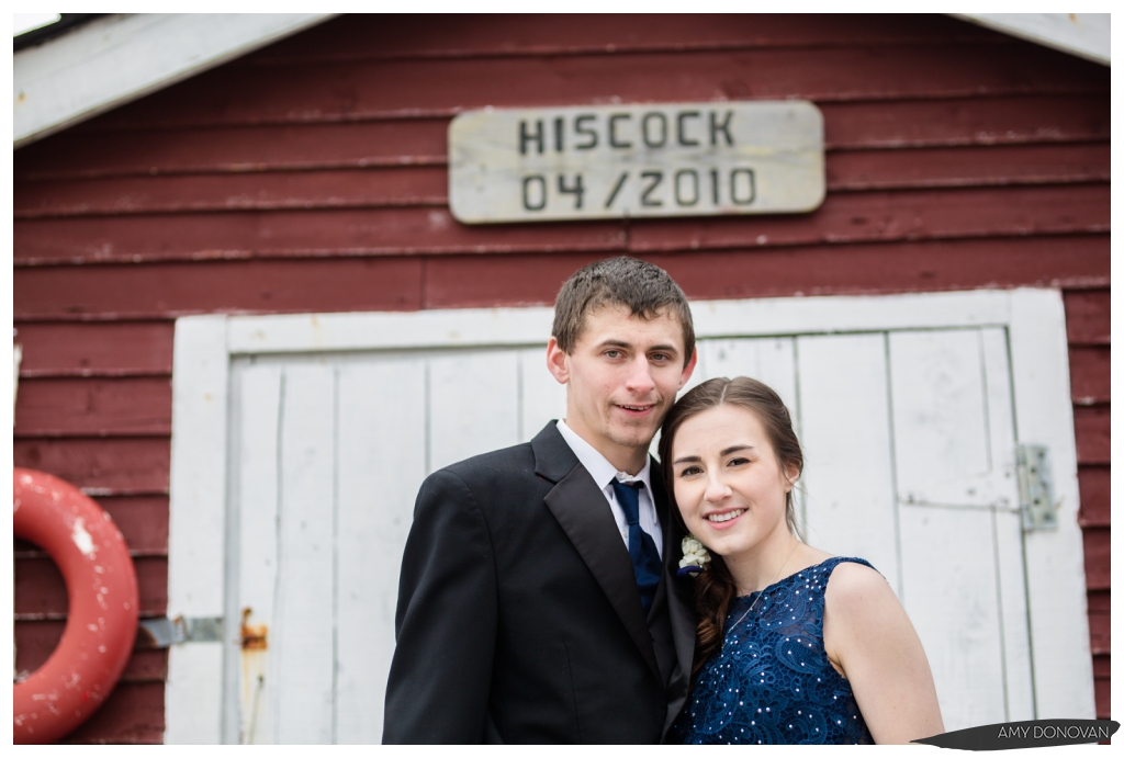
[[[519,441],[518,356],[480,350],[429,359],[429,467]]]

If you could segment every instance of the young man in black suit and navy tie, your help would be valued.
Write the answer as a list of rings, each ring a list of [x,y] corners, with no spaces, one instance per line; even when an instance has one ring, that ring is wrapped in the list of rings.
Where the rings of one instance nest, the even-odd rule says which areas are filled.
[[[634,258],[577,272],[546,366],[566,415],[422,485],[383,742],[658,742],[695,649],[682,531],[647,455],[695,368],[687,299]]]

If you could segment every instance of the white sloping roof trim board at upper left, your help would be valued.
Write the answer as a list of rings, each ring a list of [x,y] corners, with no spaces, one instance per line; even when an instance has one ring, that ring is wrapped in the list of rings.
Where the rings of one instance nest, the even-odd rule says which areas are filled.
[[[13,147],[319,24],[333,13],[127,13],[13,57]]]

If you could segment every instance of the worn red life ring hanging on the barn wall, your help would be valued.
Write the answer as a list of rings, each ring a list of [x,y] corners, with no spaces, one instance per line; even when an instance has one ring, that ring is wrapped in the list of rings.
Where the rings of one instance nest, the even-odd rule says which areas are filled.
[[[15,685],[12,739],[53,742],[105,702],[137,633],[137,576],[109,514],[73,485],[15,469],[12,532],[46,550],[66,579],[70,610],[62,641]]]

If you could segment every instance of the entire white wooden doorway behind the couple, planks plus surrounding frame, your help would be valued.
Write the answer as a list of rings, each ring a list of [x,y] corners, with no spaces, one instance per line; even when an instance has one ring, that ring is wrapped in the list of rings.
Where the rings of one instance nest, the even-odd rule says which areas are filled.
[[[806,539],[864,557],[889,581],[925,646],[949,730],[1090,718],[1060,299],[1046,340],[1060,348],[1032,364],[1015,295],[981,294],[970,307],[955,295],[914,298],[697,303],[691,385],[754,376],[792,410]],[[527,440],[564,413],[540,341],[550,318],[511,309],[221,326],[228,422],[219,429],[208,404],[220,377],[211,350],[198,405],[210,437],[196,437],[226,450],[225,532],[210,518],[203,533],[176,506],[214,510],[214,499],[176,484],[206,486],[176,473],[190,471],[176,453],[196,433],[184,423],[189,433],[173,438],[170,549],[170,609],[190,608],[176,590],[189,579],[197,608],[201,577],[225,585],[221,709],[206,723],[198,705],[189,713],[192,687],[214,692],[217,666],[211,654],[173,649],[169,741],[379,741],[417,488],[429,472]],[[219,326],[199,321],[182,343],[198,346]],[[1035,415],[1043,409],[1049,423]],[[1052,532],[1022,529],[1018,429],[1057,453]],[[220,565],[178,558],[207,535],[226,546]]]

